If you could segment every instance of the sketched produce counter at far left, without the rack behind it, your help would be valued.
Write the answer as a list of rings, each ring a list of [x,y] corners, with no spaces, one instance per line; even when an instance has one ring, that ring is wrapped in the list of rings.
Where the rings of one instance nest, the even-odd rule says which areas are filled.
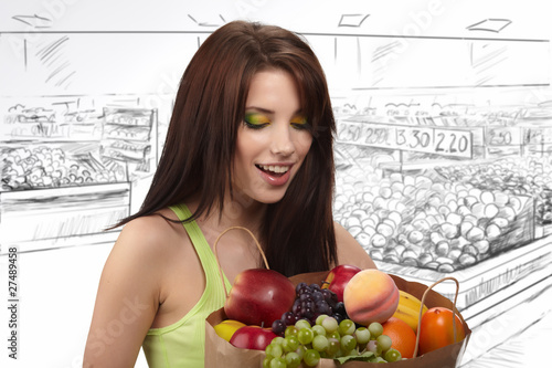
[[[1,150],[1,252],[21,252],[115,240],[104,232],[129,214],[127,169],[102,162],[98,141],[42,140]],[[116,200],[115,200],[115,199]]]

